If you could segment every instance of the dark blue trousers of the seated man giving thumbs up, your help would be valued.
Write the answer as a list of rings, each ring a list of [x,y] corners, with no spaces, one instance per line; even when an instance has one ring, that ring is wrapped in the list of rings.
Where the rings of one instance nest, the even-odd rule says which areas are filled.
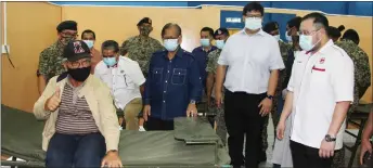
[[[101,133],[86,135],[54,133],[47,150],[46,167],[101,167],[105,153],[105,139]]]

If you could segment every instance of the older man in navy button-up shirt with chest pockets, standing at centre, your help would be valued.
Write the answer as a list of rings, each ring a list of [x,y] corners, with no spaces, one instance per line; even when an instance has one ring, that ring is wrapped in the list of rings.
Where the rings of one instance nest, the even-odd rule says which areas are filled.
[[[181,49],[181,28],[162,29],[166,50],[153,54],[145,82],[143,118],[149,130],[173,130],[173,118],[196,116],[202,83],[194,56]]]

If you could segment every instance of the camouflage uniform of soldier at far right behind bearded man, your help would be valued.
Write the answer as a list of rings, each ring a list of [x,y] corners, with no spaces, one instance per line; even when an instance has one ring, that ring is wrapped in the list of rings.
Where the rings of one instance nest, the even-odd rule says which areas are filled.
[[[359,101],[365,93],[366,89],[371,86],[369,59],[366,53],[351,40],[344,39],[342,41],[337,41],[335,44],[346,51],[355,65],[353,103],[348,111],[349,116],[359,104]],[[332,167],[345,167],[345,147],[335,153]]]

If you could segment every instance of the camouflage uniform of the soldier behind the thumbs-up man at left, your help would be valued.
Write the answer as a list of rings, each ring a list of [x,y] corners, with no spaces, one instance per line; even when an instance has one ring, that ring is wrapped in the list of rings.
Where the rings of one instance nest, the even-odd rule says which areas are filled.
[[[60,41],[56,41],[40,53],[39,73],[46,77],[47,82],[52,77],[65,72],[65,68],[62,65],[63,49],[64,46]]]

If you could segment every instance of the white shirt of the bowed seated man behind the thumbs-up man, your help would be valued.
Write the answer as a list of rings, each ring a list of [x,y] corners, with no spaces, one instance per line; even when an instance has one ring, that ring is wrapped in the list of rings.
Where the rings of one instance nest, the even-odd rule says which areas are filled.
[[[119,56],[115,67],[108,67],[101,61],[94,75],[104,81],[112,90],[117,108],[124,109],[136,98],[141,98],[139,87],[145,82],[139,63],[129,57]]]

